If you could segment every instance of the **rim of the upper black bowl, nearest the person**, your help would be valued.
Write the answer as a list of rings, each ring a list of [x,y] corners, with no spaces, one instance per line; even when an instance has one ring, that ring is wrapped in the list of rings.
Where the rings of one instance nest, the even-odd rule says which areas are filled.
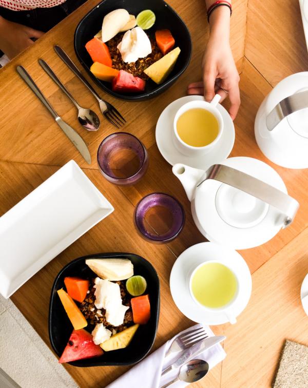
[[[166,3],[164,0],[159,0],[161,1],[162,3],[164,3],[164,5],[166,7],[169,8],[169,10],[171,12],[173,12],[175,14],[175,16],[178,18],[179,22],[182,23],[183,25],[183,28],[185,29],[186,33],[187,33],[187,36],[188,36],[188,40],[187,40],[187,43],[189,45],[189,55],[188,57],[186,58],[185,62],[184,62],[184,66],[183,68],[177,72],[177,74],[175,74],[174,76],[170,77],[170,79],[167,79],[167,81],[164,81],[161,85],[157,85],[157,88],[155,88],[154,90],[150,91],[150,92],[146,92],[146,93],[140,93],[140,94],[136,94],[136,95],[126,95],[126,94],[120,94],[120,93],[117,93],[117,92],[114,92],[112,89],[109,89],[107,88],[103,83],[100,82],[100,80],[97,79],[97,77],[95,77],[90,69],[88,68],[88,66],[85,64],[85,62],[82,60],[82,57],[81,55],[79,54],[78,50],[76,49],[76,35],[82,25],[82,23],[85,21],[85,19],[92,13],[95,11],[95,9],[97,9],[101,4],[105,3],[106,0],[102,0],[99,4],[97,4],[95,7],[93,7],[89,12],[87,12],[84,17],[80,20],[80,22],[78,23],[78,25],[76,26],[75,28],[75,31],[74,31],[74,38],[73,38],[73,41],[74,41],[74,51],[75,51],[75,54],[76,54],[76,57],[77,59],[79,60],[79,62],[81,63],[81,65],[83,66],[83,68],[86,70],[86,72],[88,73],[88,75],[90,76],[91,80],[97,85],[99,86],[99,88],[101,90],[103,90],[104,92],[112,95],[114,98],[118,99],[118,100],[124,100],[124,101],[143,101],[143,100],[147,100],[147,99],[150,99],[150,98],[153,98],[155,97],[156,95],[160,94],[161,92],[163,92],[164,90],[166,90],[169,86],[171,86],[171,84],[173,84],[174,82],[176,82],[176,80],[184,73],[184,71],[187,69],[189,63],[190,63],[190,60],[191,60],[191,55],[192,55],[192,42],[191,42],[191,35],[190,35],[190,32],[188,30],[188,27],[186,26],[185,22],[183,21],[183,19],[181,18],[181,16],[174,10],[174,8],[172,8],[168,3]]]

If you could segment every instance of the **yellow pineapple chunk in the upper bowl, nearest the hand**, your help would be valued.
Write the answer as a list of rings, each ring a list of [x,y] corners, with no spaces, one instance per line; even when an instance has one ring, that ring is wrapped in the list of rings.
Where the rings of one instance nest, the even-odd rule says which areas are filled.
[[[151,66],[147,67],[144,72],[157,84],[163,83],[174,68],[180,51],[180,48],[176,47],[168,52],[168,54],[164,55],[159,61],[154,62]]]

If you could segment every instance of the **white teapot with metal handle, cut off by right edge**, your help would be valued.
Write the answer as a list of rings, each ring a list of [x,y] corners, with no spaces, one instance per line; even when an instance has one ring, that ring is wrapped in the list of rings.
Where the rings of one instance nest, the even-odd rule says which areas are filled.
[[[259,148],[287,168],[308,167],[308,72],[279,82],[262,102],[255,120]]]

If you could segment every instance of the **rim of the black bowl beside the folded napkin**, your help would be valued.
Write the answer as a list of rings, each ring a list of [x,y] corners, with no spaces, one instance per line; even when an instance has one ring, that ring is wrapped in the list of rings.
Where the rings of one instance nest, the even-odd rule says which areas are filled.
[[[160,316],[160,281],[159,281],[159,276],[157,274],[157,271],[156,269],[154,268],[154,266],[152,265],[152,263],[150,263],[148,260],[146,260],[145,258],[143,258],[142,256],[139,256],[139,255],[136,255],[136,254],[133,254],[133,253],[126,253],[126,252],[107,252],[107,253],[98,253],[98,254],[93,254],[93,255],[86,255],[86,256],[81,256],[81,257],[78,257],[72,261],[70,261],[69,263],[67,263],[61,270],[60,272],[56,275],[54,281],[53,281],[53,284],[52,284],[52,287],[51,287],[51,292],[50,292],[50,299],[49,299],[49,311],[48,311],[48,335],[49,335],[49,341],[50,341],[50,344],[51,344],[51,347],[54,351],[54,353],[60,357],[61,355],[56,351],[56,347],[54,345],[54,341],[53,341],[53,337],[52,337],[52,334],[51,334],[51,308],[52,308],[52,302],[53,302],[53,299],[54,299],[54,289],[55,289],[55,284],[56,282],[58,281],[58,279],[60,278],[60,276],[63,274],[63,272],[68,268],[70,267],[73,263],[76,263],[76,262],[79,262],[79,261],[82,261],[82,260],[86,260],[86,259],[95,259],[95,258],[110,258],[110,259],[120,259],[120,258],[129,258],[129,257],[136,257],[138,258],[138,260],[144,262],[144,263],[147,263],[146,265],[150,265],[151,269],[153,270],[153,275],[155,276],[155,279],[157,281],[157,303],[156,303],[156,314],[155,314],[155,333],[153,335],[153,339],[150,341],[150,344],[149,346],[147,347],[146,351],[139,357],[131,360],[131,361],[126,361],[126,362],[95,362],[95,357],[92,357],[92,358],[89,358],[89,359],[84,359],[84,360],[76,360],[76,361],[70,361],[70,362],[67,362],[67,364],[69,365],[73,365],[73,366],[78,366],[78,367],[91,367],[91,366],[125,366],[125,365],[133,365],[133,364],[136,364],[137,362],[141,361],[142,359],[144,359],[148,353],[150,352],[154,342],[155,342],[155,339],[156,339],[156,334],[157,334],[157,329],[158,329],[158,323],[159,323],[159,316]],[[89,362],[89,364],[87,365],[82,365],[83,361],[87,360],[89,362],[89,360],[94,360],[94,362]]]

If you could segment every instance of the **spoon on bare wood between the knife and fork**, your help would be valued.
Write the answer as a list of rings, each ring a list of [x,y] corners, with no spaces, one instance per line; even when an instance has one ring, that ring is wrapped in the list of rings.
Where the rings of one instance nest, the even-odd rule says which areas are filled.
[[[75,107],[78,109],[78,121],[88,131],[97,131],[100,127],[100,119],[98,115],[91,109],[82,108],[73,98],[71,93],[66,89],[63,83],[51,70],[50,66],[42,59],[38,60],[38,63],[43,67],[50,78],[64,91],[68,98],[72,101]]]

